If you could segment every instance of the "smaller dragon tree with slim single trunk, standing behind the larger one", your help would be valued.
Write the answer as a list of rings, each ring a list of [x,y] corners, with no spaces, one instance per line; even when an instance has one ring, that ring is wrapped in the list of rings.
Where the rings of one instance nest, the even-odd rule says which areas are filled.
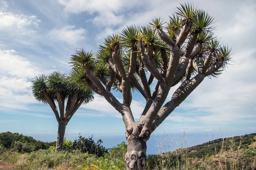
[[[69,76],[53,71],[48,76],[40,74],[32,80],[33,96],[38,102],[49,104],[57,119],[56,152],[62,150],[66,126],[72,116],[82,104],[93,101],[93,92],[85,83],[77,80],[82,80],[83,77],[87,77],[84,71],[72,71]]]

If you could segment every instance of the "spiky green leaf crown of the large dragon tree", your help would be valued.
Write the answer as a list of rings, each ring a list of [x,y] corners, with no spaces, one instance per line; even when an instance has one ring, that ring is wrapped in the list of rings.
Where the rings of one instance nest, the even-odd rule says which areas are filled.
[[[148,56],[153,59],[158,71],[163,70],[163,59],[161,56],[161,51],[166,51],[168,56],[168,61],[170,58],[170,51],[172,47],[163,42],[159,37],[158,31],[166,29],[169,37],[176,42],[177,37],[179,36],[180,31],[185,24],[189,24],[189,34],[186,41],[181,45],[181,49],[186,51],[188,45],[189,36],[192,34],[197,34],[197,40],[195,45],[200,45],[200,50],[198,51],[198,67],[202,69],[204,65],[204,60],[206,59],[209,52],[212,53],[212,58],[209,64],[209,67],[214,65],[220,59],[224,60],[223,67],[218,71],[222,71],[227,66],[227,61],[230,60],[229,50],[225,46],[220,45],[219,40],[214,36],[212,23],[214,23],[214,17],[210,16],[207,11],[198,9],[192,3],[180,4],[180,7],[177,7],[177,12],[169,16],[169,22],[164,26],[163,20],[160,18],[155,18],[152,20],[150,26],[127,26],[124,28],[120,34],[113,34],[105,38],[103,45],[100,45],[99,51],[95,54],[85,53],[83,49],[77,52],[76,55],[71,57],[71,63],[75,68],[82,68],[84,63],[96,63],[90,70],[98,77],[99,79],[105,79],[105,82],[109,80],[109,59],[112,57],[112,52],[114,48],[118,48],[119,56],[122,60],[122,64],[125,68],[125,72],[128,73],[130,68],[130,56],[131,49],[137,48],[137,59],[136,59],[136,71],[134,75],[138,75],[138,69],[143,67],[145,72],[147,68],[144,66],[140,57],[140,44],[143,43],[146,53]],[[122,48],[123,47],[123,48]],[[153,48],[152,48],[153,47]],[[152,49],[151,49],[152,48]],[[151,51],[150,51],[150,50]],[[154,55],[150,56],[149,52],[154,51]],[[83,54],[83,55],[77,55]],[[181,56],[182,57],[182,56]],[[77,70],[76,70],[77,71]],[[215,76],[218,72],[210,76]],[[196,74],[195,70],[192,71],[192,75]],[[183,74],[182,79],[185,77]],[[182,80],[181,79],[181,80]],[[121,79],[116,78],[116,83],[121,83]],[[140,80],[138,80],[139,83]],[[117,89],[115,83],[113,88]]]

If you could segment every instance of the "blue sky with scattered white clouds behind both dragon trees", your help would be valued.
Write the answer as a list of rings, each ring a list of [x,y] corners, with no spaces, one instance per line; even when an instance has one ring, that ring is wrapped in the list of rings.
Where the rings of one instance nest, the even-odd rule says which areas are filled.
[[[155,17],[168,21],[179,3],[184,1],[0,0],[0,132],[38,138],[56,134],[54,113],[49,105],[38,103],[32,96],[31,80],[54,70],[68,74],[70,55],[77,48],[95,52],[104,38],[120,33],[126,26],[146,26]],[[154,135],[185,132],[198,136],[216,134],[213,136],[219,138],[255,133],[256,2],[193,3],[215,18],[215,35],[232,47],[233,62],[218,78],[204,79]],[[171,89],[166,102],[176,88]],[[122,98],[121,94],[114,95]],[[145,99],[135,93],[131,110],[136,120],[144,106]],[[120,113],[102,96],[95,95],[94,101],[82,105],[67,125],[66,136],[79,133],[125,136],[125,127]]]

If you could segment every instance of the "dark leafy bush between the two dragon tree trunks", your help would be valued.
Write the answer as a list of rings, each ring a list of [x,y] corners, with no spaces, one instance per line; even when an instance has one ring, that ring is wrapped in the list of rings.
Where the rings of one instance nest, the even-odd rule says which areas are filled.
[[[84,138],[79,134],[79,139],[76,139],[73,144],[73,150],[80,150],[81,153],[88,152],[89,154],[95,154],[100,157],[103,156],[104,153],[108,153],[108,150],[102,146],[102,140],[99,139],[96,143],[93,140],[93,135],[89,136],[89,138]]]

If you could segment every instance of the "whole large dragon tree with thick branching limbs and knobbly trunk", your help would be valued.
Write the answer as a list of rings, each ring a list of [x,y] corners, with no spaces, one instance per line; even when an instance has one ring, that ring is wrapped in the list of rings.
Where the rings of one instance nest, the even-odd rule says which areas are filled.
[[[150,134],[205,77],[216,77],[227,66],[231,50],[214,37],[213,21],[207,11],[185,3],[165,27],[160,18],[150,26],[128,26],[121,34],[108,36],[96,54],[81,49],[72,55],[73,71],[85,71],[87,78],[81,79],[122,115],[128,170],[145,169]],[[152,83],[153,79],[157,83]],[[155,87],[150,87],[153,84]],[[166,101],[170,88],[177,84],[172,99]],[[122,93],[122,102],[111,89]],[[146,103],[138,122],[130,107],[134,89]]]

